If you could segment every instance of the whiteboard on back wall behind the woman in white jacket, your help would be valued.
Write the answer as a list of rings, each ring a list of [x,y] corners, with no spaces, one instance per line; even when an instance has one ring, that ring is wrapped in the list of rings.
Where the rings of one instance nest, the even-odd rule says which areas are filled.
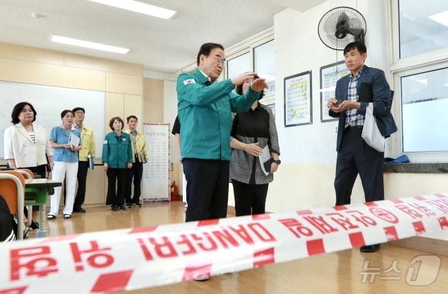
[[[104,139],[104,100],[100,91],[69,89],[0,81],[0,158],[4,158],[3,133],[12,126],[11,113],[19,102],[30,102],[36,110],[36,124],[43,126],[48,135],[54,126],[62,124],[60,113],[65,109],[82,107],[86,110],[84,123],[93,129],[96,158],[101,158]]]

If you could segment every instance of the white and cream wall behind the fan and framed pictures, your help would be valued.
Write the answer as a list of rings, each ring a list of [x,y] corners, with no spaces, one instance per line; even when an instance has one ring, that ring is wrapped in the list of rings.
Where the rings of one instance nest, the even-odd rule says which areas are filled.
[[[374,2],[374,3],[372,3]],[[322,15],[337,6],[350,6],[368,22],[366,64],[385,71],[391,88],[390,21],[387,0],[329,0],[304,13],[286,9],[274,15],[276,40],[276,124],[282,164],[269,185],[266,209],[283,212],[330,207],[335,203],[333,181],[336,162],[337,122],[320,122],[320,67],[342,60],[342,52],[326,47],[317,35]],[[283,78],[312,71],[313,124],[284,127]],[[399,99],[394,100],[399,103]],[[397,107],[392,106],[392,111]],[[395,135],[386,140],[386,155],[393,154]],[[385,199],[448,192],[448,174],[384,174]],[[352,192],[352,203],[363,202],[359,177]],[[229,205],[234,205],[230,186]],[[448,240],[448,232],[431,236]]]

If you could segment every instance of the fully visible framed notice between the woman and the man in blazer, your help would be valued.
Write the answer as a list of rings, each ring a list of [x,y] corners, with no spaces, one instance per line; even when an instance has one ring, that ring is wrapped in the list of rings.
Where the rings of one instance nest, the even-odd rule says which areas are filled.
[[[311,71],[304,71],[283,80],[284,126],[313,123]]]

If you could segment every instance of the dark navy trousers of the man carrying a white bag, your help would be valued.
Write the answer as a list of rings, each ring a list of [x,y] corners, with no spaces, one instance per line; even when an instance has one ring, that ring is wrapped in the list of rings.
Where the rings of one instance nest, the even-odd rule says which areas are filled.
[[[378,152],[361,137],[361,128],[346,128],[336,161],[336,205],[350,204],[359,173],[367,201],[384,200],[384,152]]]

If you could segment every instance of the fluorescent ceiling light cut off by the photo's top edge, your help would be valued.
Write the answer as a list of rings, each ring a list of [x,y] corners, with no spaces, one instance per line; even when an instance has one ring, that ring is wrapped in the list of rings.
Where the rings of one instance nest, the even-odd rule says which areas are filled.
[[[122,8],[131,10],[133,12],[139,12],[148,14],[150,16],[160,17],[161,19],[169,19],[176,12],[173,10],[157,7],[154,5],[134,1],[134,0],[89,0],[104,5],[110,5],[116,8]]]

